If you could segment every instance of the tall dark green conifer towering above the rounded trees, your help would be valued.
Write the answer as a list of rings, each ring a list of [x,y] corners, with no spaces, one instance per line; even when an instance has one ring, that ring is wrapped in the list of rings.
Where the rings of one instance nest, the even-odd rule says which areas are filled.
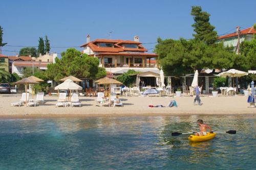
[[[215,27],[210,25],[208,14],[202,11],[200,6],[193,6],[191,15],[194,16],[195,23],[192,25],[196,34],[193,34],[195,39],[203,41],[206,44],[213,44],[217,38],[217,32],[214,31]]]

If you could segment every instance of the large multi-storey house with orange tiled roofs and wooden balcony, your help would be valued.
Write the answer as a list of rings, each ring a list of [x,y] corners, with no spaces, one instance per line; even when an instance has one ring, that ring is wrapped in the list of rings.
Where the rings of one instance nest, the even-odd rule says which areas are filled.
[[[139,37],[134,40],[95,39],[82,44],[82,53],[99,59],[99,66],[109,72],[108,76],[121,75],[129,69],[145,72],[138,81],[148,82],[146,85],[157,86],[156,77],[159,77],[156,54],[146,53],[147,49],[139,42]],[[137,82],[139,84],[139,82]]]

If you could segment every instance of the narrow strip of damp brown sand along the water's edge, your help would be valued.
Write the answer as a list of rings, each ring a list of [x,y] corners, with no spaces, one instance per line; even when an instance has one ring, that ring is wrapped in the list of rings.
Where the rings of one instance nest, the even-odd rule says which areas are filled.
[[[92,118],[92,117],[136,117],[136,116],[255,116],[251,113],[124,113],[124,114],[13,114],[13,115],[0,115],[0,119],[51,119],[51,118]]]

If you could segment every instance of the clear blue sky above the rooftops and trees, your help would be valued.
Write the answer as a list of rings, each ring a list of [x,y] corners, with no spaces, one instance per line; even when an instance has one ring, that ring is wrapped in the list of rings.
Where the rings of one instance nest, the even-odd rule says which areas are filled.
[[[256,1],[1,1],[0,25],[8,45],[37,46],[38,37],[48,35],[51,46],[79,46],[96,38],[133,40],[144,43],[180,37],[191,38],[194,20],[191,6],[211,14],[218,34],[236,26],[248,28],[256,22]],[[155,44],[144,44],[154,48]],[[3,50],[19,51],[20,47]],[[51,48],[60,53],[66,48]],[[81,50],[81,48],[77,48]],[[152,50],[150,50],[152,52]],[[15,55],[16,52],[2,52]],[[60,55],[58,55],[60,56]]]

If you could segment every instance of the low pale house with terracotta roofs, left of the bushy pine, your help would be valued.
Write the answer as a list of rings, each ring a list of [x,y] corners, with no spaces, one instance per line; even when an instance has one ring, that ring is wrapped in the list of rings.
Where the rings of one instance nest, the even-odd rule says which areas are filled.
[[[56,53],[46,54],[37,58],[30,56],[9,56],[9,71],[11,73],[15,72],[18,76],[22,77],[23,71],[27,67],[37,67],[38,69],[46,70],[47,65],[54,63],[56,57]]]

